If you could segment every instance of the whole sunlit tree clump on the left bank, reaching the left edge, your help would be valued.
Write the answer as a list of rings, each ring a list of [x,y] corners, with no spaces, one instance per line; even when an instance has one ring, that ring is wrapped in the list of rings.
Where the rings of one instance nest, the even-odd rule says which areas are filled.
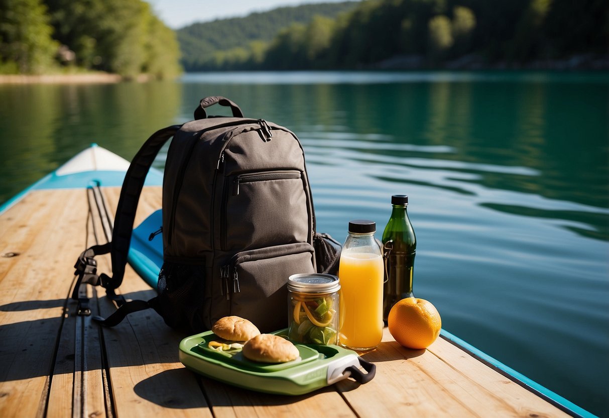
[[[181,72],[175,32],[141,0],[0,0],[0,74]]]

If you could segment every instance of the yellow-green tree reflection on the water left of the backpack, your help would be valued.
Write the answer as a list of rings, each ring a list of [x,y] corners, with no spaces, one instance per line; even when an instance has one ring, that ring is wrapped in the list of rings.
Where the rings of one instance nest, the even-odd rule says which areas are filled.
[[[91,143],[131,159],[154,130],[174,123],[181,85],[0,85],[0,201]]]

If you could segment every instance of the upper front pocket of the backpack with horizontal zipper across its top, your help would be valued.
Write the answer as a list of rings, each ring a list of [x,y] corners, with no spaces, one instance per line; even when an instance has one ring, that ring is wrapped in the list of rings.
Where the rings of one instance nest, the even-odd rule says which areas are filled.
[[[222,250],[308,241],[308,202],[300,171],[230,175],[225,179],[223,195]]]

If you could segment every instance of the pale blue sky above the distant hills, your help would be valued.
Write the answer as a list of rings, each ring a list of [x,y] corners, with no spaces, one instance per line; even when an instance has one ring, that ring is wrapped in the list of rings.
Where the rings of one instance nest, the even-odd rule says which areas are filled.
[[[146,0],[155,14],[172,29],[196,22],[247,16],[283,6],[345,0]]]

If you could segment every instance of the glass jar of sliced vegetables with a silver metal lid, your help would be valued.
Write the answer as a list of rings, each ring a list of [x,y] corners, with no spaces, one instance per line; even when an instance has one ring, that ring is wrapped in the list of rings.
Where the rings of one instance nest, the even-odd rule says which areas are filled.
[[[293,274],[287,279],[287,336],[303,344],[337,344],[339,278],[331,274]]]

